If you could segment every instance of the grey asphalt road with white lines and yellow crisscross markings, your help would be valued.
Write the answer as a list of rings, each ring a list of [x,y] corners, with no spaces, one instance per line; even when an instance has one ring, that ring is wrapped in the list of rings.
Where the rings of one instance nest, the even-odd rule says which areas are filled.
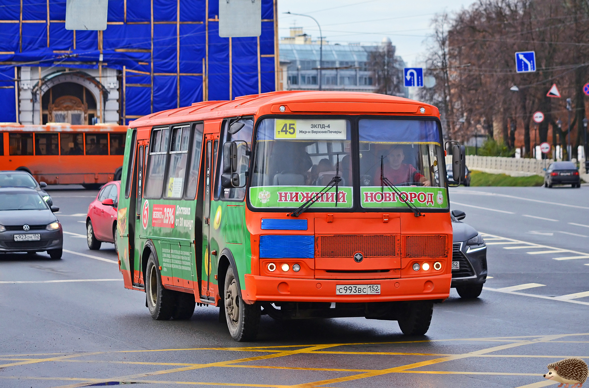
[[[364,318],[263,317],[255,343],[236,343],[217,308],[197,307],[190,321],[152,320],[145,295],[123,288],[114,246],[87,248],[96,192],[52,190],[68,232],[64,257],[0,256],[0,387],[544,386],[548,363],[589,360],[589,298],[570,296],[589,291],[589,228],[574,225],[589,225],[588,194],[452,189],[452,208],[498,243],[488,248],[492,278],[478,300],[453,290],[424,337]],[[516,246],[524,248],[504,249]]]

